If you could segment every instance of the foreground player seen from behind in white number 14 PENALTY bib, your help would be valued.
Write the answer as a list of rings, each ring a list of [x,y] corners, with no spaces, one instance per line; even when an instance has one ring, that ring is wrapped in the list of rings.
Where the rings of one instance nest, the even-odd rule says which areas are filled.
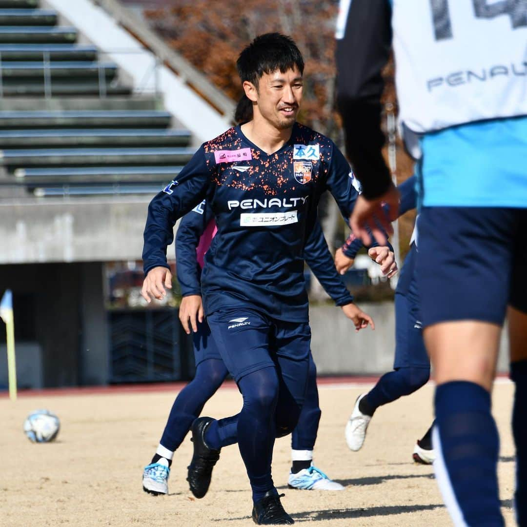
[[[527,525],[525,2],[343,0],[337,38],[346,152],[364,189],[350,226],[365,240],[368,224],[386,225],[382,202],[397,202],[380,128],[381,71],[394,48],[399,121],[418,160],[417,281],[448,511],[456,525],[504,524],[491,389],[507,314],[515,510]]]

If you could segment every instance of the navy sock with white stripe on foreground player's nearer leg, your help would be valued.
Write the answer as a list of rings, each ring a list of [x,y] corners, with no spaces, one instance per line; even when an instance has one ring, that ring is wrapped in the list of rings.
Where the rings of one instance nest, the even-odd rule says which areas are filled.
[[[435,413],[434,471],[454,525],[503,526],[499,436],[489,392],[465,381],[442,384],[436,388]]]

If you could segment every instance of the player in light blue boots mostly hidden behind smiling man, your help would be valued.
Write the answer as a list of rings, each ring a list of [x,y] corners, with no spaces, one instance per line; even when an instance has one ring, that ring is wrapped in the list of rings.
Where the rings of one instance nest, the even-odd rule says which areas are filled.
[[[174,451],[180,446],[194,419],[199,417],[203,405],[217,391],[228,373],[210,329],[204,321],[201,301],[200,276],[203,257],[215,231],[212,211],[203,201],[182,218],[175,238],[177,276],[183,297],[179,317],[186,333],[190,335],[192,332],[196,375],[175,399],[157,451],[150,464],[144,468],[143,490],[154,495],[168,494],[168,477]],[[393,274],[396,269],[393,252],[389,251],[388,247],[372,248],[370,251],[374,258],[382,261],[382,269]],[[307,241],[305,258],[337,306],[353,302],[353,297],[331,265],[331,253],[318,221]],[[359,313],[358,308],[356,313]],[[331,481],[324,472],[313,465],[313,447],[321,414],[316,373],[316,366],[310,354],[306,401],[302,406],[298,424],[291,434],[292,466],[288,484],[293,488],[305,490],[343,490],[342,485]]]

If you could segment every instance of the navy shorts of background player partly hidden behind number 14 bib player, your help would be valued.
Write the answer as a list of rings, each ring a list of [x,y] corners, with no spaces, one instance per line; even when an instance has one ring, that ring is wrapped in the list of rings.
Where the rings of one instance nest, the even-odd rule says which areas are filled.
[[[417,289],[415,243],[404,260],[395,290],[395,360],[397,368],[430,368],[423,340],[421,302]]]

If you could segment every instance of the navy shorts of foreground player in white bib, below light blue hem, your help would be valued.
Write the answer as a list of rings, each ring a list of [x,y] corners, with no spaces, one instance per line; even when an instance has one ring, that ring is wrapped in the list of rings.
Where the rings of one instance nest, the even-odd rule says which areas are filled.
[[[418,229],[424,327],[448,320],[502,325],[508,304],[527,313],[526,209],[423,207]]]

